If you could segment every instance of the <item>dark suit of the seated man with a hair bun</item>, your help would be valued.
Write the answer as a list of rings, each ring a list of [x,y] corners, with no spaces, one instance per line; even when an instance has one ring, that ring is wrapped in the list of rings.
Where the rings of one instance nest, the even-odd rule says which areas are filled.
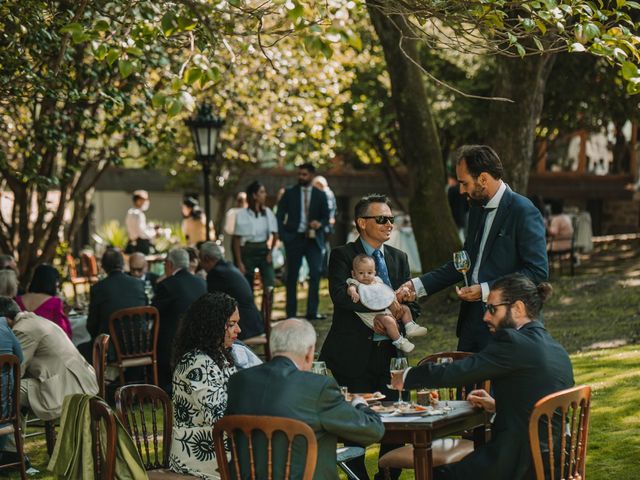
[[[449,365],[409,370],[405,388],[453,387],[491,380],[496,400],[492,440],[462,462],[441,469],[442,477],[477,480],[528,478],[528,428],[533,405],[545,395],[573,386],[573,368],[564,348],[540,322],[520,330],[498,330],[472,357]]]

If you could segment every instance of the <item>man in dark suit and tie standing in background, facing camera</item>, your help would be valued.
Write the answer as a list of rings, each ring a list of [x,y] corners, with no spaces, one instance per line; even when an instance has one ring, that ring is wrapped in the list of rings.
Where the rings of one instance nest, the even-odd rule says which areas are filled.
[[[309,320],[322,320],[318,315],[318,291],[324,252],[324,229],[329,225],[327,196],[311,185],[315,167],[304,163],[298,167],[298,185],[288,188],[276,212],[278,233],[287,254],[287,317],[296,317],[298,273],[302,257],[309,265],[309,295],[307,314]]]

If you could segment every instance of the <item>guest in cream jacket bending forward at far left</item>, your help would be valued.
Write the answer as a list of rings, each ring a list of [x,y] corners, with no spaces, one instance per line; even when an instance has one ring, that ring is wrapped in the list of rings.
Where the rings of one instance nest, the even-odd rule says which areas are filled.
[[[21,312],[8,297],[0,297],[0,317],[6,318],[22,347],[22,407],[42,420],[53,420],[60,417],[67,395],[98,393],[93,367],[59,326],[33,312]]]

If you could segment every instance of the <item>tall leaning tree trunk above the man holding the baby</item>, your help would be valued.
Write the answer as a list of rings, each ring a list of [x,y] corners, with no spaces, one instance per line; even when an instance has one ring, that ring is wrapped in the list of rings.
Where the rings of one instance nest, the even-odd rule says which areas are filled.
[[[444,188],[438,130],[418,65],[418,43],[401,15],[390,15],[392,0],[367,0],[373,26],[384,50],[391,98],[398,119],[400,159],[409,172],[409,213],[428,271],[451,258],[460,246]]]

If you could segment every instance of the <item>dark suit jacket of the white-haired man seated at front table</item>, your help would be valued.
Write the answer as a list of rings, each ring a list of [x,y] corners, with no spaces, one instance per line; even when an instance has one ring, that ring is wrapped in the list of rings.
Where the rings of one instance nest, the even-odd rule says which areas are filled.
[[[239,371],[229,379],[227,389],[227,415],[288,417],[301,420],[313,429],[318,440],[314,479],[338,478],[338,436],[368,445],[380,440],[384,434],[378,415],[365,406],[353,407],[345,402],[333,378],[302,372],[287,357],[275,357],[268,363]],[[295,450],[294,446],[290,478],[301,478],[304,463]],[[244,452],[241,458],[246,461],[246,449]],[[264,463],[258,463],[256,478],[267,478],[265,467]],[[281,469],[282,465],[274,465],[274,472],[278,467]],[[273,478],[282,478],[282,472],[274,474]]]

